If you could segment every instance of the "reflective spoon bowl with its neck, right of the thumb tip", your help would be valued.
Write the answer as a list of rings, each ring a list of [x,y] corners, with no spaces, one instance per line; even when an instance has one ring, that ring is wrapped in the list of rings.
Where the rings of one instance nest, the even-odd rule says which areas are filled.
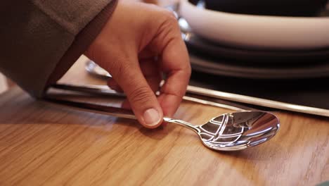
[[[169,123],[182,122],[170,118],[164,120]],[[205,147],[219,151],[237,151],[262,144],[276,135],[280,128],[278,118],[264,111],[224,113],[204,125],[186,122],[181,125],[196,132]]]

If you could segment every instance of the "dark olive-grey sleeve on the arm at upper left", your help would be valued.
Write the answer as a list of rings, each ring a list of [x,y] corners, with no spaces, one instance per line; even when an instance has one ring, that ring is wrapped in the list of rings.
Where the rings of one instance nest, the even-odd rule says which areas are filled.
[[[41,97],[58,63],[74,63],[115,4],[115,0],[1,2],[1,73],[33,97]]]

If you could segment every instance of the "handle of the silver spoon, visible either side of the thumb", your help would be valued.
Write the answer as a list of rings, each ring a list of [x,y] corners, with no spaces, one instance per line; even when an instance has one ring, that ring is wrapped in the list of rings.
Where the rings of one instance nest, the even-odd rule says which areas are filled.
[[[49,101],[53,104],[60,104],[60,105],[67,106],[67,107],[73,107],[80,111],[101,113],[101,114],[105,114],[105,115],[115,116],[118,118],[127,118],[127,119],[137,120],[134,113],[127,109],[121,109],[121,108],[112,107],[112,106],[102,106],[102,105],[97,105],[97,104],[68,101],[68,100],[64,100],[64,99],[56,99],[53,97],[45,97],[44,100]],[[184,120],[176,120],[176,119],[168,118],[168,117],[164,117],[163,120],[167,123],[176,123],[185,128],[189,128],[196,133],[200,132],[200,130],[198,129],[197,126],[192,125],[191,123],[188,123]]]

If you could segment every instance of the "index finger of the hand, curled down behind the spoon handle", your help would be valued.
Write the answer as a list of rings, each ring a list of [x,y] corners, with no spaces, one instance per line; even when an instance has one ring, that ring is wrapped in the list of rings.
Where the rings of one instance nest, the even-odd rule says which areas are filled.
[[[166,29],[169,29],[169,32],[164,29],[157,37],[162,40],[156,41],[161,56],[160,68],[167,75],[158,100],[164,115],[172,116],[186,93],[191,77],[191,65],[177,21],[169,21],[168,24]]]

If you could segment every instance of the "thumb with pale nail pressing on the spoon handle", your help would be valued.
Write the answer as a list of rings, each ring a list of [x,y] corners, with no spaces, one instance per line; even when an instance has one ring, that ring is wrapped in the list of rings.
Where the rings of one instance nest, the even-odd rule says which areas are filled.
[[[124,61],[118,64],[120,70],[112,68],[110,73],[127,95],[139,123],[146,128],[157,128],[162,123],[163,112],[138,63]]]

